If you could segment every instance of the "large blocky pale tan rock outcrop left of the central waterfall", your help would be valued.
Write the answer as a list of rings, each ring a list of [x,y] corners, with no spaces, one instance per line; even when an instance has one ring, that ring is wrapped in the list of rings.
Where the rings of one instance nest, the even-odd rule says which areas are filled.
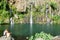
[[[26,10],[26,1],[25,0],[15,0],[15,7],[17,11],[25,11]]]

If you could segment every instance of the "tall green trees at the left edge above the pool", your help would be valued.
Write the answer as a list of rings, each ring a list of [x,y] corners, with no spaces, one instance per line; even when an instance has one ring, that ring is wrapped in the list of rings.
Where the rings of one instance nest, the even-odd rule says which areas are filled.
[[[0,23],[3,23],[6,18],[9,17],[9,12],[7,11],[7,1],[0,0]]]

